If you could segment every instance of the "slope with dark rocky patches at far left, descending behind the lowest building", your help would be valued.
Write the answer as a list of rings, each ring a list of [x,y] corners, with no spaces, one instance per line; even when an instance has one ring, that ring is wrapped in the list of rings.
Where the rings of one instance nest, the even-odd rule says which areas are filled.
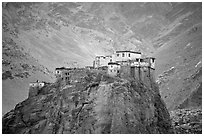
[[[2,114],[27,97],[29,82],[53,81],[52,72],[19,46],[11,32],[4,32],[2,41]]]

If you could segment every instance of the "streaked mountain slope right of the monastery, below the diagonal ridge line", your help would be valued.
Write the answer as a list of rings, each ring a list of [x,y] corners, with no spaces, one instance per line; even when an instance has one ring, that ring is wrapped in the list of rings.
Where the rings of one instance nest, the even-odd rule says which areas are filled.
[[[198,22],[175,35],[174,30],[172,40],[155,52],[160,92],[169,109],[179,107],[196,91],[202,94],[202,25]],[[200,107],[201,101],[186,106]]]

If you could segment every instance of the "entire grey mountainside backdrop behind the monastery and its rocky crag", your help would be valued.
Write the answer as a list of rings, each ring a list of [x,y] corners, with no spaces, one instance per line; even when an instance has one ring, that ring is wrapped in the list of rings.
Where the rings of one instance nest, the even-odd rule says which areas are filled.
[[[3,114],[27,97],[30,81],[53,82],[56,67],[130,49],[156,57],[168,110],[200,108],[201,11],[198,2],[2,3]]]

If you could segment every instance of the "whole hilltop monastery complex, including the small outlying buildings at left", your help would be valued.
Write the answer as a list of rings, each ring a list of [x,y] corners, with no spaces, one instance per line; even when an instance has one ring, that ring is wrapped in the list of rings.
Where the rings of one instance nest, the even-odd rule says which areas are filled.
[[[59,86],[80,82],[86,75],[86,70],[105,70],[109,76],[118,78],[134,78],[139,81],[146,81],[154,78],[155,58],[142,57],[141,52],[116,51],[109,56],[96,56],[92,66],[85,68],[65,68],[55,69],[56,81]],[[42,91],[47,83],[31,82],[29,84],[29,96],[36,96]]]

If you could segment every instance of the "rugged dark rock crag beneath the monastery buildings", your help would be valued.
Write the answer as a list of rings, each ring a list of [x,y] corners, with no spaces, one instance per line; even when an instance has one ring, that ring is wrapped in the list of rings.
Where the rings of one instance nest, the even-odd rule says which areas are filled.
[[[80,82],[47,89],[8,112],[3,133],[173,133],[153,81],[88,73]]]

